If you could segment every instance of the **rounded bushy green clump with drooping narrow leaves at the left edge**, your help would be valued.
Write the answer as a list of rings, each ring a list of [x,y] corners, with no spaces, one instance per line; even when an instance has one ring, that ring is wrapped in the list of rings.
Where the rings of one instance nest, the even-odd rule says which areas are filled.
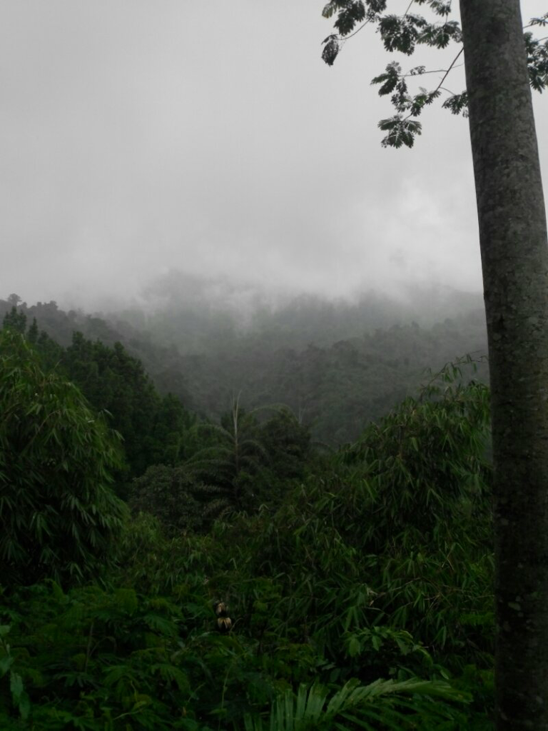
[[[110,561],[125,515],[118,437],[13,330],[0,333],[0,580],[81,578]]]

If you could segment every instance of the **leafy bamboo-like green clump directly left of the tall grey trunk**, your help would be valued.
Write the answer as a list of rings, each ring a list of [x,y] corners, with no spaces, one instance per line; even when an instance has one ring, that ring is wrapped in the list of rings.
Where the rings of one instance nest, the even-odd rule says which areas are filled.
[[[466,512],[488,512],[489,390],[462,378],[460,363],[444,368],[419,399],[403,401],[343,452],[374,504],[375,523],[365,529],[372,540],[381,526],[382,540],[394,540],[410,529],[452,531]]]

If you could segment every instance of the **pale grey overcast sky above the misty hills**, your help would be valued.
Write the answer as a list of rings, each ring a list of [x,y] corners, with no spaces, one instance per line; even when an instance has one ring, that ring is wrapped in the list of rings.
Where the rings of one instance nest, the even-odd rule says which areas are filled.
[[[173,268],[479,289],[468,121],[428,110],[413,150],[382,149],[392,107],[370,80],[392,58],[365,29],[325,66],[322,4],[0,0],[0,297],[96,306]],[[524,20],[546,10],[522,1]]]

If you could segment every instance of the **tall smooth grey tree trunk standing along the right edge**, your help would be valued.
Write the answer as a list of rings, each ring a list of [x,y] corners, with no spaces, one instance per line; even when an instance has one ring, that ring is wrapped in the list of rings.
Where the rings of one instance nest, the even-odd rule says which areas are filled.
[[[495,466],[498,731],[548,731],[548,241],[519,0],[460,0]]]

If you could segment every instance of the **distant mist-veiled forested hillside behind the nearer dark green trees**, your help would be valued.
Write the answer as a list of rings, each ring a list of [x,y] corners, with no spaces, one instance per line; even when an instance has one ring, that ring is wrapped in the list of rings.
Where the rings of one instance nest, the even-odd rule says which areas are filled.
[[[160,393],[204,417],[218,420],[238,394],[248,409],[286,404],[314,439],[332,446],[356,439],[414,393],[425,369],[486,352],[481,302],[458,292],[433,292],[430,306],[424,295],[405,306],[368,295],[354,304],[297,298],[242,312],[226,295],[208,302],[197,289],[194,283],[183,302],[173,294],[156,311],[102,317],[64,312],[53,302],[27,306],[12,295],[0,300],[0,317],[17,303],[29,324],[36,318],[63,346],[75,330],[105,345],[119,341]],[[479,377],[487,380],[486,366]]]

